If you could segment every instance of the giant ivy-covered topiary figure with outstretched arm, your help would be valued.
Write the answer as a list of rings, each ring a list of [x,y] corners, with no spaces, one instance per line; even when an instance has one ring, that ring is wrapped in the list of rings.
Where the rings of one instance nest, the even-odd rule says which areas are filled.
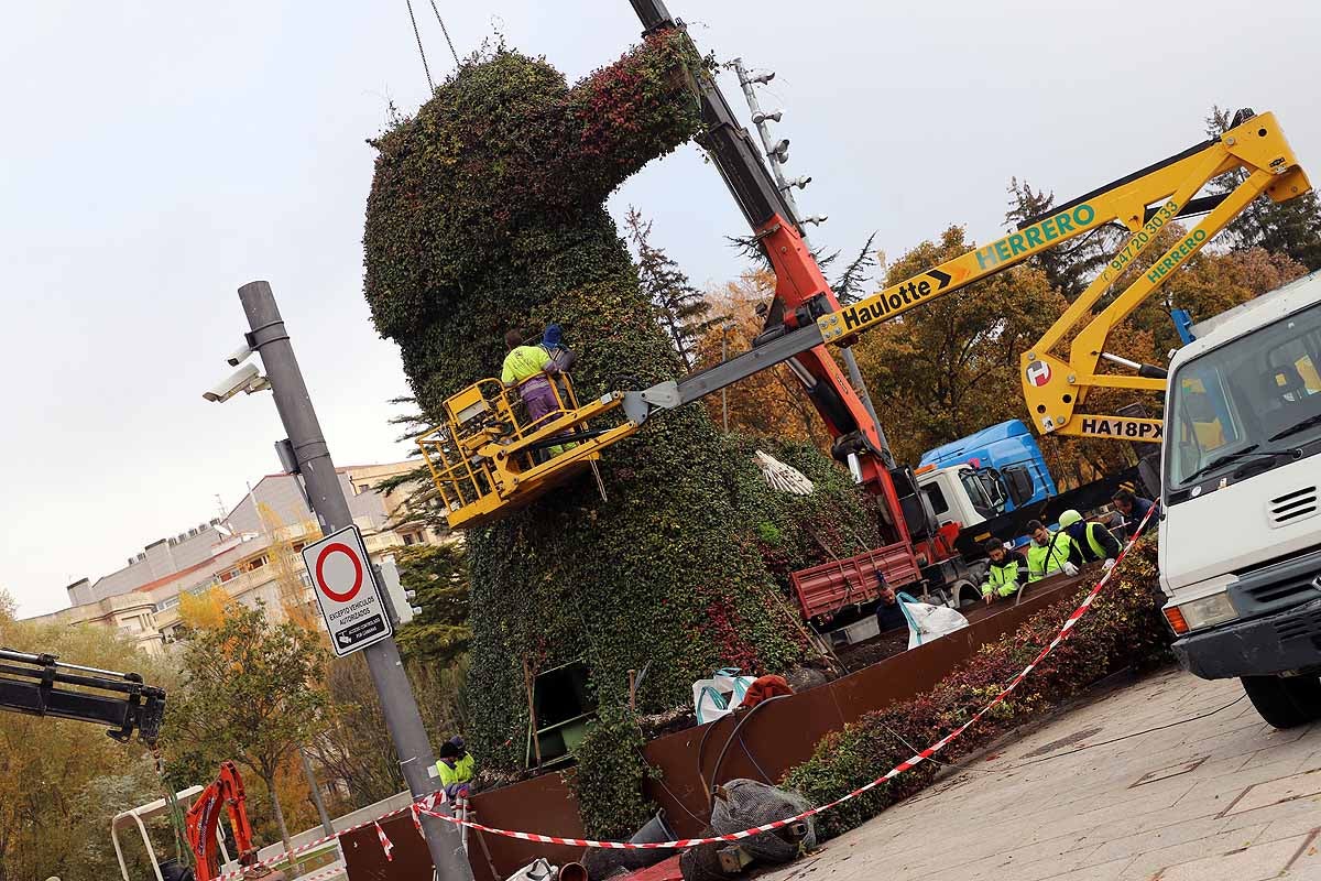
[[[573,87],[543,59],[498,49],[376,141],[366,296],[424,412],[498,374],[506,330],[548,321],[580,354],[583,399],[614,387],[618,374],[675,374],[602,202],[697,132],[690,77],[703,70],[676,34],[650,38]],[[691,682],[712,668],[799,660],[806,647],[774,596],[775,576],[832,543],[808,534],[843,536],[835,553],[876,534],[834,466],[814,452],[797,450],[794,461],[822,491],[771,497],[745,450],[688,407],[606,454],[609,502],[581,481],[469,532],[470,740],[483,763],[522,766],[524,662],[546,670],[581,658],[598,700],[618,705],[626,671],[650,660],[639,701],[662,709],[691,700]],[[633,819],[590,824],[621,832]]]

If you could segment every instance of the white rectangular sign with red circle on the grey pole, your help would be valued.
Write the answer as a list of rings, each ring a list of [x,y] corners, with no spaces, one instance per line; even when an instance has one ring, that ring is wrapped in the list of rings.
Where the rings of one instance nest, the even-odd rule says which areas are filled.
[[[346,526],[303,548],[303,563],[336,655],[350,655],[394,633],[358,527]]]

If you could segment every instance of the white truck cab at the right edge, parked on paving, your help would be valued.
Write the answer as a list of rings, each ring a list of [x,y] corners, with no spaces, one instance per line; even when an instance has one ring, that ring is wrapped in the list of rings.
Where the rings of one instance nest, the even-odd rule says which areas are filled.
[[[1180,662],[1276,728],[1321,719],[1321,272],[1170,362],[1160,579]]]

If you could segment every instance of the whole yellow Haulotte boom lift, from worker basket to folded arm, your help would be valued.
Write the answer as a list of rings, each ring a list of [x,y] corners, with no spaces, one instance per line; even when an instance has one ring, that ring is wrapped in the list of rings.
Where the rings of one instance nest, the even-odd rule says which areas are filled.
[[[1209,181],[1236,169],[1242,169],[1246,177],[1232,192],[1196,198]],[[857,334],[909,309],[1114,222],[1122,223],[1132,235],[1045,337],[1024,353],[1020,379],[1028,411],[1042,433],[1160,441],[1160,420],[1075,413],[1092,388],[1165,390],[1164,370],[1107,353],[1107,338],[1254,198],[1266,193],[1273,201],[1284,202],[1309,189],[1308,177],[1275,116],[1240,111],[1235,124],[1219,137],[1074,199],[1049,217],[1029,221],[1018,231],[984,247],[838,309],[830,308],[823,293],[803,288],[819,284],[812,281],[819,272],[803,275],[795,267],[810,264],[815,268],[815,262],[810,254],[791,254],[793,248],[802,250],[801,240],[793,235],[783,236],[781,219],[773,218],[758,230],[758,239],[774,251],[770,256],[779,285],[793,288],[793,293],[804,302],[795,314],[786,316],[783,328],[779,328],[782,333],[761,334],[761,345],[709,370],[643,391],[610,391],[587,405],[579,405],[572,386],[564,378],[563,388],[557,390],[561,412],[535,424],[526,424],[520,417],[517,392],[503,388],[495,379],[483,379],[449,398],[444,404],[444,424],[424,435],[419,444],[448,512],[449,526],[482,526],[579,474],[600,458],[604,448],[635,433],[655,409],[691,403],[778,363],[797,363],[822,343],[851,345]],[[1177,217],[1196,214],[1206,217],[1100,313],[1092,314],[1096,302],[1149,248],[1162,226]],[[786,250],[787,258],[781,250]],[[782,272],[781,263],[786,259],[791,263],[797,259],[797,263]],[[782,296],[785,291],[777,288],[777,297]],[[1086,324],[1073,338],[1067,358],[1050,354],[1085,320]],[[1135,369],[1137,375],[1099,374],[1096,369],[1103,358]],[[806,371],[795,372],[804,380],[823,416],[831,419],[831,400],[818,395],[818,387],[827,383]],[[838,382],[828,379],[836,386],[843,384],[841,378]],[[622,420],[616,413],[606,428],[589,425],[617,408],[624,411]],[[563,452],[546,458],[551,448]],[[848,456],[848,449],[840,450],[841,458]]]

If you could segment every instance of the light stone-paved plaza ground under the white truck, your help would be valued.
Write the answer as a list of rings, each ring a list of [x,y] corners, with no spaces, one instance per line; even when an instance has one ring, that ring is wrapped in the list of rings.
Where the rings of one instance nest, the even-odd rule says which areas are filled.
[[[1242,695],[1174,668],[1125,678],[762,877],[1321,880],[1321,724],[1281,732],[1246,697],[1225,708]]]

